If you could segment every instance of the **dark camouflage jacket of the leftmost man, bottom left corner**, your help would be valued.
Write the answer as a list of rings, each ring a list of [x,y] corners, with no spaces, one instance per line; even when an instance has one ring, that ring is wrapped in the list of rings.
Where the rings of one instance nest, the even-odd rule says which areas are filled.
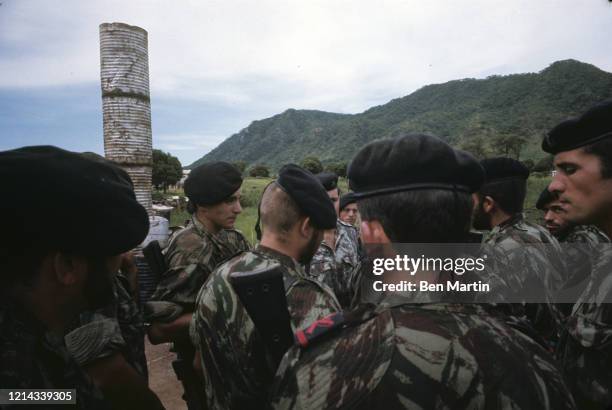
[[[70,356],[61,336],[45,329],[15,303],[0,305],[0,386],[3,389],[76,389],[76,405],[57,408],[108,409],[109,404]],[[0,409],[43,408],[0,404]]]

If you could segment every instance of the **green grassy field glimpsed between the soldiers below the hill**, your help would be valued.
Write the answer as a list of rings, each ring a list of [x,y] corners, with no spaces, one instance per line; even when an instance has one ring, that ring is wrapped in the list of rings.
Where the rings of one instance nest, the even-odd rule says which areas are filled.
[[[242,199],[241,204],[243,211],[236,220],[236,229],[242,231],[244,236],[254,244],[255,237],[255,222],[257,221],[257,204],[263,189],[271,181],[271,178],[246,178],[242,184]],[[531,176],[527,181],[527,198],[525,200],[525,216],[531,222],[540,223],[542,219],[541,212],[535,209],[535,203],[540,195],[540,192],[550,183],[549,176]],[[347,192],[347,181],[344,178],[340,179],[338,184],[342,192]],[[161,194],[156,193],[155,197],[159,198]],[[182,191],[169,191],[166,195],[184,195]],[[189,219],[187,211],[172,211],[170,217],[170,226],[183,225],[185,220]]]

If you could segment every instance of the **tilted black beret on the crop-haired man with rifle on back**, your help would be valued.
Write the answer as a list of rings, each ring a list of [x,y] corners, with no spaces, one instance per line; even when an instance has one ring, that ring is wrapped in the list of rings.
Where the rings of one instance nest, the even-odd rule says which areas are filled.
[[[334,204],[323,185],[310,171],[295,164],[285,165],[278,172],[276,183],[310,217],[314,226],[319,229],[336,227]]]

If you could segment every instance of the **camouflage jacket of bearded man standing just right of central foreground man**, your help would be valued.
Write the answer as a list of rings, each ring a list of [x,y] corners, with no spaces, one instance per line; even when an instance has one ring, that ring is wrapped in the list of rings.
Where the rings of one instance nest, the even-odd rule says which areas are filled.
[[[491,285],[490,294],[514,295],[537,290],[548,302],[500,305],[513,316],[526,316],[549,343],[557,339],[563,315],[552,303],[553,292],[567,280],[563,252],[557,240],[541,226],[531,224],[521,214],[494,227],[483,239]]]

